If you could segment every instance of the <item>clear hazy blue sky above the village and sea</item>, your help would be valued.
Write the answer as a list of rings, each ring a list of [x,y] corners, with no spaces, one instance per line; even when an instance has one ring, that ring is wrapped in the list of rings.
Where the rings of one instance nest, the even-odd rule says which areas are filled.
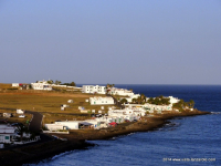
[[[0,0],[0,83],[221,84],[220,0]]]

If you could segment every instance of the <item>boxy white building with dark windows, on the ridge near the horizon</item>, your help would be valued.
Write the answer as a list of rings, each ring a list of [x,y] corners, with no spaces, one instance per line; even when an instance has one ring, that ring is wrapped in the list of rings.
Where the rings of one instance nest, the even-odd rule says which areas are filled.
[[[106,94],[106,86],[99,85],[83,85],[82,93],[98,93],[98,94]]]

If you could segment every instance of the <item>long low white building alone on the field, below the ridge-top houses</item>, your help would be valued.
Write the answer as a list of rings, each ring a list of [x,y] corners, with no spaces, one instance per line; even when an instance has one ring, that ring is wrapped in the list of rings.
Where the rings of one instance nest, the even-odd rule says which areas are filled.
[[[112,105],[114,104],[113,97],[101,97],[101,96],[94,96],[90,97],[90,103],[91,105]]]

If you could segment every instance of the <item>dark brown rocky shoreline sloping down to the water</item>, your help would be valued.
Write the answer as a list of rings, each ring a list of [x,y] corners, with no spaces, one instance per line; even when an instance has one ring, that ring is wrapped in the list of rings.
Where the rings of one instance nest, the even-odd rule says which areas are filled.
[[[65,152],[71,152],[74,149],[85,149],[86,147],[94,146],[86,141],[109,139],[113,137],[128,135],[136,132],[154,131],[156,128],[162,127],[165,124],[168,123],[169,120],[172,120],[175,117],[188,117],[207,114],[211,113],[201,111],[168,113],[148,117],[144,116],[141,121],[135,123],[123,123],[116,127],[104,129],[71,131],[69,135],[53,134],[57,135],[59,137],[67,138],[67,141],[53,139],[34,145],[0,149],[0,163],[1,165],[22,165],[38,163],[40,160],[51,158]]]

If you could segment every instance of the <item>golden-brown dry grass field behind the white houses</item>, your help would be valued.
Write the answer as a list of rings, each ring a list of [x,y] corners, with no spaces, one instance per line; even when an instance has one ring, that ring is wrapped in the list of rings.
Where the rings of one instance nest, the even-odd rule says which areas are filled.
[[[0,108],[1,113],[9,112],[4,108],[21,108],[28,111],[41,112],[44,115],[43,123],[53,123],[54,121],[73,121],[86,120],[91,117],[92,110],[96,113],[101,110],[101,105],[91,105],[85,100],[92,96],[105,96],[98,94],[82,94],[81,92],[63,92],[63,91],[34,91],[34,90],[1,90],[0,91]],[[67,103],[73,100],[73,103]],[[65,111],[61,111],[61,105],[67,104]],[[78,106],[83,106],[87,113],[81,113]],[[104,113],[108,111],[108,106],[104,105]],[[2,120],[2,117],[0,118]],[[10,118],[20,121],[19,118]]]

